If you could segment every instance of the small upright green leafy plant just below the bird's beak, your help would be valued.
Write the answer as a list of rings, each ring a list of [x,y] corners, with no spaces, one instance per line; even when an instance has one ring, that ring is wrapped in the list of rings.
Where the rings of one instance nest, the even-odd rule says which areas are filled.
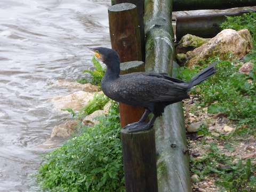
[[[89,73],[92,78],[88,81],[86,78],[82,78],[77,80],[78,83],[84,84],[90,82],[93,85],[100,86],[101,79],[105,74],[105,69],[103,69],[100,65],[100,62],[93,56],[92,58],[93,66],[96,68],[94,71],[84,70],[83,73]]]

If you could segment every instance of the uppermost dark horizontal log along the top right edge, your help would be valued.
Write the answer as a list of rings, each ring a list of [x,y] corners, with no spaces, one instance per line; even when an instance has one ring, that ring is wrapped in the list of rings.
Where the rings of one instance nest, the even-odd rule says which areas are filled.
[[[255,0],[173,0],[173,11],[229,9],[233,7],[255,6]]]

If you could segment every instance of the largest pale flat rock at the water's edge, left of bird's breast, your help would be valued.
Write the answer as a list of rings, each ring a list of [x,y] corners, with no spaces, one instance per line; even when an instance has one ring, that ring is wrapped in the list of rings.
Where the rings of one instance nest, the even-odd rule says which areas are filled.
[[[100,93],[101,92],[99,92],[99,94]],[[53,106],[55,108],[58,108],[58,109],[71,108],[74,111],[78,111],[83,106],[85,106],[88,101],[93,99],[94,94],[95,94],[94,92],[77,91],[75,93],[72,93],[66,96],[55,97],[51,101],[53,102]]]

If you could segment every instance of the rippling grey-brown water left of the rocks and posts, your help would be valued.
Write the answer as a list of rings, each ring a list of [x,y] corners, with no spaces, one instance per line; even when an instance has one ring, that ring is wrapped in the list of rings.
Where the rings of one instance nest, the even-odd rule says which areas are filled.
[[[67,115],[49,97],[58,79],[73,81],[91,67],[86,46],[110,46],[110,1],[0,1],[0,191],[34,191],[29,175],[49,138]],[[32,183],[31,183],[32,182]],[[33,187],[34,186],[34,187]]]

